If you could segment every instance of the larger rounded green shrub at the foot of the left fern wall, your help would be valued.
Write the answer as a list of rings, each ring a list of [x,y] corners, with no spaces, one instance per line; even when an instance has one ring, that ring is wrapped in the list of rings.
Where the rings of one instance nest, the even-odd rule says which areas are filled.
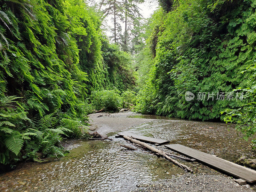
[[[91,99],[97,110],[105,108],[105,110],[108,111],[117,111],[118,108],[121,107],[122,103],[120,91],[117,89],[93,91]]]

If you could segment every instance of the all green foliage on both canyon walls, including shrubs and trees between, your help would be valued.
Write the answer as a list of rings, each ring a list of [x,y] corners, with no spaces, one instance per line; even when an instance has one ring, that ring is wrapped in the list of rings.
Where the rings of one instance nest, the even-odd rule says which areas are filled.
[[[64,156],[60,141],[85,137],[87,115],[101,108],[256,132],[255,1],[159,0],[144,24],[141,2],[0,2],[0,168]],[[108,15],[115,44],[101,30]],[[188,91],[206,95],[188,101]]]

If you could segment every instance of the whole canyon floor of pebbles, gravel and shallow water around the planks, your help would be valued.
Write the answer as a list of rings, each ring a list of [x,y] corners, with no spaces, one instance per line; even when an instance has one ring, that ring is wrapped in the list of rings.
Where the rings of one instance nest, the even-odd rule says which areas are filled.
[[[242,140],[234,128],[223,123],[185,121],[161,116],[142,116],[132,112],[91,114],[90,129],[114,141],[71,140],[71,150],[60,160],[39,164],[25,163],[0,174],[0,191],[253,191],[233,178],[198,162],[186,162],[194,174],[154,154],[126,150],[130,145],[117,132],[129,131],[170,140],[235,162],[242,155],[252,156],[250,142]],[[134,147],[134,146],[133,146]],[[158,148],[171,152],[164,146]],[[177,154],[179,155],[179,154]]]

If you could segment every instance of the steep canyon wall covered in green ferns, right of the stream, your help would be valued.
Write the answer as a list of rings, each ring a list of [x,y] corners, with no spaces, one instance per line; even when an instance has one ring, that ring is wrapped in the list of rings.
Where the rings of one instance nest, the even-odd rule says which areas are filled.
[[[255,1],[173,1],[148,21],[142,68],[151,68],[137,111],[189,119],[220,119],[221,111],[246,100],[185,100],[185,92],[232,92],[252,87],[256,63]],[[157,23],[158,21],[158,23]],[[157,40],[157,41],[156,41]],[[147,48],[148,48],[147,47]],[[154,57],[153,64],[143,64]],[[242,92],[240,90],[239,92]],[[145,97],[145,92],[148,95]],[[234,92],[236,94],[236,91]]]

